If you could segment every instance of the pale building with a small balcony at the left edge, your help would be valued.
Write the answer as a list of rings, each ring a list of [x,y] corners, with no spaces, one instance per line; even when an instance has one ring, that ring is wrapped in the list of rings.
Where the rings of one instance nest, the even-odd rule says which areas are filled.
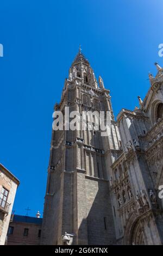
[[[12,206],[20,181],[0,163],[0,245],[7,239]]]

